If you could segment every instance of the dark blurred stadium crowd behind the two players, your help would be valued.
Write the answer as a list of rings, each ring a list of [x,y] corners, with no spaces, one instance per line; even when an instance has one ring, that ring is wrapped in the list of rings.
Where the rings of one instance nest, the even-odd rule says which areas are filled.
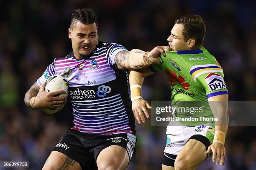
[[[77,7],[91,7],[98,15],[99,38],[128,50],[151,50],[167,45],[175,18],[199,14],[207,26],[204,46],[224,68],[230,100],[256,100],[255,1],[231,0],[12,0],[0,1],[0,160],[30,161],[41,169],[65,130],[72,127],[69,107],[47,115],[29,110],[24,94],[55,57],[71,50],[67,31]],[[169,100],[168,82],[159,73],[146,78],[143,97]],[[241,116],[243,113],[241,113]],[[137,125],[137,153],[128,170],[161,168],[165,127],[148,120]],[[230,127],[227,161],[204,170],[255,170],[256,127]],[[11,168],[8,168],[10,170]]]

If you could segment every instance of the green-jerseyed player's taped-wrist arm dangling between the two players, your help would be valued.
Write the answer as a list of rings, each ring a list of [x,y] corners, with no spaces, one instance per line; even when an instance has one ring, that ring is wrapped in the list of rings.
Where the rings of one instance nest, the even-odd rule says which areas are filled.
[[[141,70],[131,70],[130,72],[130,88],[131,88],[131,100],[132,110],[138,123],[145,122],[145,117],[149,117],[147,109],[151,109],[151,106],[146,100],[142,98],[141,86],[144,78],[148,75],[154,74],[148,67]]]

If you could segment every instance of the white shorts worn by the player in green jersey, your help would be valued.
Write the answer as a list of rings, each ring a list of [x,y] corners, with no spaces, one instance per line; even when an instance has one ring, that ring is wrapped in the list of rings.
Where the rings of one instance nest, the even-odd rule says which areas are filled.
[[[207,150],[208,146],[212,144],[214,132],[214,126],[210,126],[209,124],[200,126],[167,126],[167,140],[164,155],[169,159],[175,160],[175,155],[179,154],[179,151],[189,139],[199,140],[205,145]],[[210,155],[207,156],[207,160],[210,159]]]

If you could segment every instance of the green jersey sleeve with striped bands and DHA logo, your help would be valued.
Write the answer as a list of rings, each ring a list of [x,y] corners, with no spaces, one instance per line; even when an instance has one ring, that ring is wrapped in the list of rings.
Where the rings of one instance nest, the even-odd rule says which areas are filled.
[[[204,87],[207,98],[228,94],[223,70],[218,62],[194,65],[190,68],[189,72],[195,82],[199,82]]]

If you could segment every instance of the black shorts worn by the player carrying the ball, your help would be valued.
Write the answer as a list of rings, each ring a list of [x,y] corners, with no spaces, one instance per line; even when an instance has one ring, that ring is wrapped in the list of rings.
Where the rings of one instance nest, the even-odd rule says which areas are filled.
[[[136,137],[132,134],[94,135],[70,129],[55,146],[54,151],[77,161],[82,170],[97,170],[97,156],[103,149],[111,145],[121,146],[127,151],[130,162],[135,153],[135,143]]]

